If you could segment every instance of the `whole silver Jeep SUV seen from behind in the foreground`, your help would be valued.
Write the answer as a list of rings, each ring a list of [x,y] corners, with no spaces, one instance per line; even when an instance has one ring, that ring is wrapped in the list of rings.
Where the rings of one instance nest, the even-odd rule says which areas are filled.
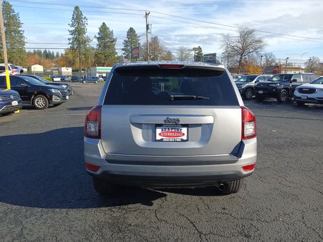
[[[214,187],[236,193],[257,156],[256,120],[223,65],[116,64],[87,114],[95,190]]]

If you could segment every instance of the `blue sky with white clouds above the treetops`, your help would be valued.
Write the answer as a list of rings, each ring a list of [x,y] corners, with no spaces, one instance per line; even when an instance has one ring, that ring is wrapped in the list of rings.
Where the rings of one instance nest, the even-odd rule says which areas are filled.
[[[267,43],[264,52],[273,52],[277,59],[282,59],[282,62],[289,57],[291,63],[299,65],[301,54],[305,52],[308,53],[303,54],[302,63],[310,56],[317,56],[323,62],[322,0],[9,0],[9,2],[19,13],[28,42],[26,47],[29,48],[68,47],[68,24],[71,23],[74,6],[78,5],[88,19],[87,34],[93,38],[93,46],[96,42],[94,35],[97,34],[102,22],[105,22],[117,37],[119,48],[117,51],[120,54],[129,27],[133,27],[137,34],[142,35],[141,42],[145,41],[144,11],[147,10],[150,11],[148,20],[152,25],[151,34],[158,36],[164,41],[165,47],[173,52],[176,52],[179,46],[188,48],[201,46],[204,53],[217,52],[219,55],[224,51],[221,48],[221,34],[237,35],[236,27],[246,26],[256,29],[257,36],[262,37]]]

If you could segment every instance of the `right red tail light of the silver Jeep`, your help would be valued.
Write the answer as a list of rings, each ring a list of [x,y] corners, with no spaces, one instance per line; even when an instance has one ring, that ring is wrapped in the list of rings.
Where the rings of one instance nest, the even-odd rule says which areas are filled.
[[[241,107],[242,132],[241,139],[247,140],[257,136],[256,117],[247,107]]]

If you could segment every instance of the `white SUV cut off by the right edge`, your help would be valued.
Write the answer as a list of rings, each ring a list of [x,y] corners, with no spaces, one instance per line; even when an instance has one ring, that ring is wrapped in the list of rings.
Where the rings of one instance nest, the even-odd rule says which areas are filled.
[[[297,105],[303,106],[305,103],[323,104],[323,76],[296,87],[294,100]]]

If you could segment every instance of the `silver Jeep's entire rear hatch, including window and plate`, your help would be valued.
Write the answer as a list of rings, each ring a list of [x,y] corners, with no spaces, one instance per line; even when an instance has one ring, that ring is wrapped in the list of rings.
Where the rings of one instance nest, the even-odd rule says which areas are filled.
[[[212,66],[117,67],[101,109],[105,153],[235,154],[241,108],[224,69]]]

